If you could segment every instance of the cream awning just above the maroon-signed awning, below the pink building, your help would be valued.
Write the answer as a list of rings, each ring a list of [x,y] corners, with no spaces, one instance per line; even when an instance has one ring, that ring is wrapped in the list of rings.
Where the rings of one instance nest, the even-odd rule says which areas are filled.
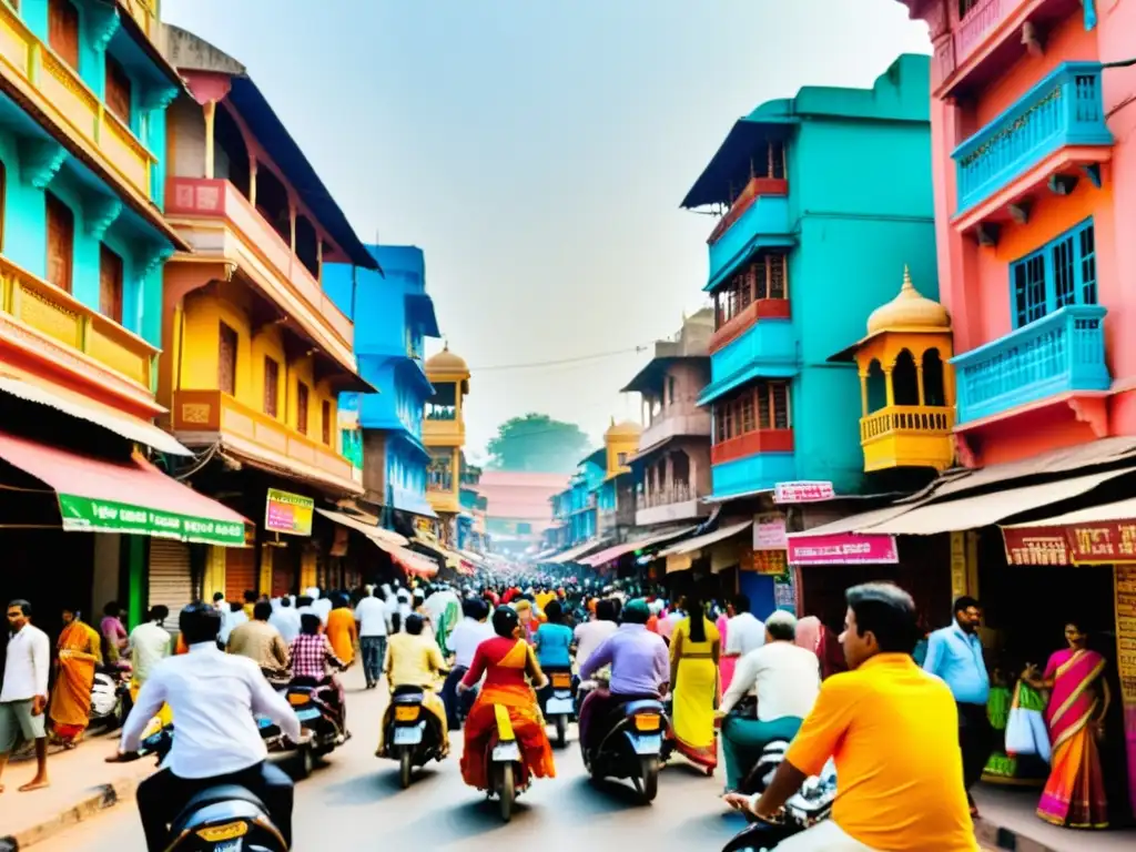
[[[1080,496],[1109,479],[1133,473],[1134,469],[1136,468],[1104,470],[1070,479],[1027,485],[1022,488],[1005,488],[958,500],[936,501],[876,524],[866,532],[883,535],[937,535],[975,529],[1050,503]]]

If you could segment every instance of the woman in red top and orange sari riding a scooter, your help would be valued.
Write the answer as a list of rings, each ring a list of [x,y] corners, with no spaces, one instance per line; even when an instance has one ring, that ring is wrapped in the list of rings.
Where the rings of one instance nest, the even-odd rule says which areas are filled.
[[[556,777],[552,745],[544,730],[544,717],[536,704],[533,686],[546,683],[533,649],[521,638],[520,619],[511,607],[493,612],[493,638],[477,646],[474,663],[461,679],[458,692],[474,688],[485,676],[481,693],[466,718],[466,747],[461,754],[461,777],[466,784],[488,790],[488,767],[485,751],[496,732],[496,707],[509,713],[517,743],[528,774],[535,778]],[[526,682],[526,676],[528,682]]]

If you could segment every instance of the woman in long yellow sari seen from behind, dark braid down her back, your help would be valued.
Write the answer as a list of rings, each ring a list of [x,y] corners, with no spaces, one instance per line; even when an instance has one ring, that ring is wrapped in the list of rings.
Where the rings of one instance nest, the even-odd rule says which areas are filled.
[[[684,609],[690,615],[675,626],[670,637],[673,735],[683,757],[713,775],[718,766],[715,708],[721,637],[705,617],[701,595],[687,596]]]

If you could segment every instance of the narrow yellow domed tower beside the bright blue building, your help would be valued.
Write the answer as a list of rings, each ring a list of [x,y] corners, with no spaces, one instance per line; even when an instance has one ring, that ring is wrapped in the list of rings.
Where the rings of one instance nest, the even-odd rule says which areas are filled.
[[[469,367],[449,344],[426,361],[434,395],[426,403],[423,443],[429,450],[426,496],[442,521],[442,538],[456,541],[454,519],[461,511],[461,449],[466,444],[465,398]]]

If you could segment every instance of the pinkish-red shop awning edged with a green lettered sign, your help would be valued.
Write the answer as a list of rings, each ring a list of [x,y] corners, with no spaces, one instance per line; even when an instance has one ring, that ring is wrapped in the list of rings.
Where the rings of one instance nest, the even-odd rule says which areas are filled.
[[[244,517],[136,454],[111,461],[0,432],[0,458],[56,492],[65,532],[244,546]]]

